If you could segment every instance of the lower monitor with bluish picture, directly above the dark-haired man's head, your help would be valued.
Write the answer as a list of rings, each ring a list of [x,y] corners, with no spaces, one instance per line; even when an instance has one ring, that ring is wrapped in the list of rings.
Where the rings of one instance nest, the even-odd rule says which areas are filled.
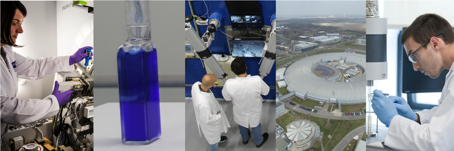
[[[262,57],[265,41],[255,40],[230,40],[232,57]]]

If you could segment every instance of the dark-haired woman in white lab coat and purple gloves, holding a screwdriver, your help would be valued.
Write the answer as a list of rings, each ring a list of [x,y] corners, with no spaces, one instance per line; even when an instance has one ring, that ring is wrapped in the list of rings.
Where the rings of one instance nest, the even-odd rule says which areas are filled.
[[[72,56],[30,58],[12,50],[19,33],[23,33],[22,21],[27,15],[25,6],[20,1],[1,1],[1,138],[8,132],[9,124],[25,125],[57,114],[59,106],[68,103],[73,90],[63,93],[58,91],[55,81],[54,92],[44,99],[16,98],[18,79],[38,80],[56,72],[73,71],[74,63],[87,57],[85,49],[80,48]],[[91,54],[93,56],[93,54]],[[91,58],[91,57],[90,57]]]

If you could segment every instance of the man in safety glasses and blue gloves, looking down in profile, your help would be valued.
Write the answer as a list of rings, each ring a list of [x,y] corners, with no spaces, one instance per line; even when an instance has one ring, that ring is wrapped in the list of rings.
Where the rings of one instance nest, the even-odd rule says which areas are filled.
[[[372,108],[389,127],[385,145],[396,150],[454,151],[454,29],[437,14],[423,14],[404,30],[401,43],[415,71],[431,78],[443,69],[449,72],[438,106],[430,110],[415,113],[404,98],[374,90]]]

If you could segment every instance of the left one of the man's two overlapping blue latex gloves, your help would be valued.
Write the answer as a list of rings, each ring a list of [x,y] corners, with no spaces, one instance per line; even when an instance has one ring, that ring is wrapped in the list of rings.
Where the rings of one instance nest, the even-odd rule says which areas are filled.
[[[372,109],[374,109],[374,113],[377,115],[380,122],[386,124],[386,127],[390,127],[391,120],[396,115],[399,115],[394,106],[394,102],[388,99],[388,97],[379,90],[374,90],[371,102]]]

